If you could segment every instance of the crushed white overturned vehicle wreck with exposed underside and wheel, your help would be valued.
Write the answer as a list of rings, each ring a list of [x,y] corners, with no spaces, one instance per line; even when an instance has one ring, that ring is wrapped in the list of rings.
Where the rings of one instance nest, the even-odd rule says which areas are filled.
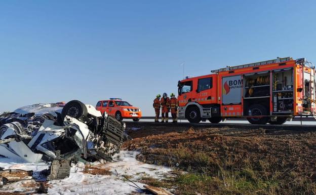
[[[2,114],[0,124],[0,155],[28,163],[51,162],[48,180],[68,177],[71,163],[80,158],[111,161],[128,137],[124,123],[78,100],[65,104],[61,113]]]

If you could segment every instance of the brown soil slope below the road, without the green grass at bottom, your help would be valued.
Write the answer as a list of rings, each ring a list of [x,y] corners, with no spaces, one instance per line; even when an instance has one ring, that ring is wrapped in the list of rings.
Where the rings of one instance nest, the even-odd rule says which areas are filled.
[[[211,177],[217,177],[219,170],[239,173],[251,169],[265,180],[275,181],[276,194],[316,193],[313,191],[316,190],[316,132],[233,127],[193,129],[176,125],[137,127],[140,129],[127,129],[134,139],[125,142],[123,148],[141,149],[138,158],[143,162]],[[218,190],[210,188],[214,191],[202,194]],[[274,193],[260,190],[257,194]]]

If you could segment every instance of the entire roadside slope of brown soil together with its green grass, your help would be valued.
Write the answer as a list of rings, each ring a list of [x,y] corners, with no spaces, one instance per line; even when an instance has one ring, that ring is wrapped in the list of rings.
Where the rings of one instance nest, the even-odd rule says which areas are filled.
[[[193,128],[176,125],[127,127],[138,159],[186,174],[148,183],[176,194],[316,194],[316,131]],[[144,179],[146,180],[146,179]]]

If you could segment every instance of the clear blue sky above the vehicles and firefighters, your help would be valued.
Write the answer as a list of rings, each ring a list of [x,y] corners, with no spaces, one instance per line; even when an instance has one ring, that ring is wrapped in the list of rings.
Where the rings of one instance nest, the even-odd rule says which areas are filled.
[[[2,1],[0,111],[121,97],[154,115],[185,74],[276,57],[316,63],[315,1]]]

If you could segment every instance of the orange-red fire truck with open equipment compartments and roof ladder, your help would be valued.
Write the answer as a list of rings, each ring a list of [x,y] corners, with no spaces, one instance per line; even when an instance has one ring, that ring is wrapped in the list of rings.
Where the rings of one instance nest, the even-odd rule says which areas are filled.
[[[315,114],[315,69],[300,58],[277,58],[212,70],[178,82],[178,116],[191,123],[246,118],[281,125]]]

